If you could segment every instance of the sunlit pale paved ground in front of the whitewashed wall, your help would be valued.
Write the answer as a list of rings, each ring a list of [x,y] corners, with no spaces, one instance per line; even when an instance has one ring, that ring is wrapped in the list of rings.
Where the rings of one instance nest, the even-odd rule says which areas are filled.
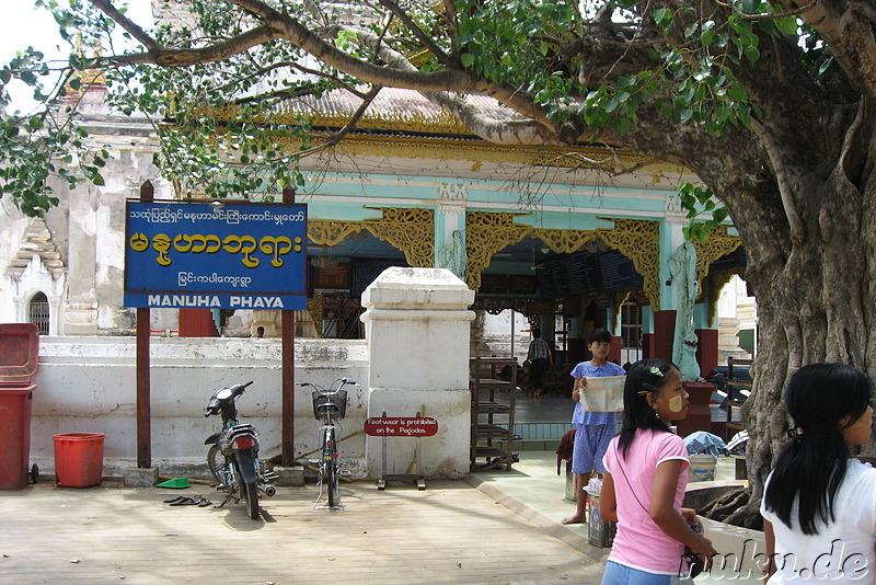
[[[43,483],[0,492],[0,582],[576,583],[602,566],[465,482],[425,491],[343,486],[344,511],[313,509],[316,490],[280,487],[251,520],[163,500],[210,489],[88,489]]]

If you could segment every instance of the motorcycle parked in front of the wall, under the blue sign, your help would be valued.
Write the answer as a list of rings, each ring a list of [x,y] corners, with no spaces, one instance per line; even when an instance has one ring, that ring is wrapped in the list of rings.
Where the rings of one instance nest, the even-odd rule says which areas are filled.
[[[227,494],[217,507],[221,508],[231,500],[234,503],[243,500],[250,518],[255,520],[260,513],[258,494],[276,494],[277,489],[269,482],[277,475],[267,471],[264,461],[258,459],[258,432],[253,425],[238,421],[235,401],[251,383],[221,388],[212,394],[204,416],[221,415],[222,429],[210,435],[204,445],[210,445],[207,466],[219,482],[216,487]]]

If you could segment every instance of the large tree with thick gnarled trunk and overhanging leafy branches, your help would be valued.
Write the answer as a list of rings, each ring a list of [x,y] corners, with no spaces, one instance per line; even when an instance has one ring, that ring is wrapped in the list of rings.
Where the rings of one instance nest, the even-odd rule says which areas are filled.
[[[876,372],[873,2],[162,0],[191,12],[155,31],[111,0],[37,3],[67,37],[102,39],[100,56],[71,57],[70,79],[56,87],[69,92],[82,71],[103,70],[117,107],[164,123],[164,172],[210,194],[296,181],[308,123],[265,113],[339,87],[365,104],[382,87],[419,91],[494,142],[599,141],[694,171],[739,230],[758,298],[746,412],[756,496],[785,438],[788,375],[817,360]],[[140,49],[112,55],[114,27]],[[35,84],[48,72],[41,57],[22,54],[0,83]],[[475,93],[517,115],[492,118],[469,100]],[[36,215],[54,204],[50,161],[88,146],[65,126],[70,100],[39,97],[45,112],[0,128],[3,193]],[[278,148],[278,137],[299,138],[302,150]],[[80,153],[87,176],[100,181],[104,157]],[[683,199],[705,202],[698,190]]]

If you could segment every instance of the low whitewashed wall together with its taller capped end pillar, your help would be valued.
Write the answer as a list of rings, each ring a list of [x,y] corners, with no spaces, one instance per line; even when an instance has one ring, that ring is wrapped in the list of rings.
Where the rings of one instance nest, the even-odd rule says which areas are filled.
[[[368,416],[435,417],[438,435],[419,439],[418,473],[459,479],[469,472],[471,398],[469,323],[474,300],[462,280],[443,268],[389,268],[362,295],[367,341],[297,340],[295,378],[327,387],[346,377],[342,458],[357,479],[379,478],[382,438],[367,437]],[[43,337],[33,382],[31,461],[53,473],[53,435],[104,433],[104,474],[137,464],[135,337]],[[204,440],[220,425],[204,417],[214,391],[253,380],[238,400],[241,420],[261,433],[264,459],[280,455],[281,347],[278,339],[150,340],[152,466],[162,474],[206,473]],[[320,446],[310,388],[296,388],[297,459]],[[392,469],[411,469],[417,439],[388,443]],[[312,457],[312,456],[311,456]]]

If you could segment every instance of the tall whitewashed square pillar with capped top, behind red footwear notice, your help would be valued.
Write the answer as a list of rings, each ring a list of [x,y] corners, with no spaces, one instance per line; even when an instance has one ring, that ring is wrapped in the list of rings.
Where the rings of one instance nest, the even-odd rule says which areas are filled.
[[[458,479],[469,473],[472,302],[474,291],[446,268],[388,268],[362,292],[368,416],[420,412],[438,422],[433,437],[367,437],[369,478],[382,475],[384,440],[388,474],[416,470],[427,479]]]

